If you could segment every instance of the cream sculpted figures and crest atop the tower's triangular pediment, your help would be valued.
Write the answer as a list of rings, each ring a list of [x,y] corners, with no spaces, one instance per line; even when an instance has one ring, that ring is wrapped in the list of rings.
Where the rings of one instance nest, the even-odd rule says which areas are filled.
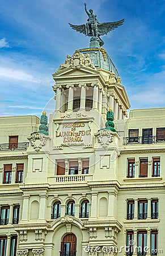
[[[69,67],[73,69],[80,69],[83,66],[96,69],[94,64],[91,62],[90,55],[88,53],[84,56],[83,53],[75,51],[72,56],[66,56],[65,63],[60,65],[57,72]]]

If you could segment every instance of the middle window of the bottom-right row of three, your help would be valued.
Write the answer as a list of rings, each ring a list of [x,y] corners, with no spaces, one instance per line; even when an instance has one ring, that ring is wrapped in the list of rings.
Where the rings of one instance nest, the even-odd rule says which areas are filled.
[[[146,255],[145,247],[147,246],[147,232],[146,231],[138,232],[137,240],[138,240],[137,255],[140,255],[140,256]]]

